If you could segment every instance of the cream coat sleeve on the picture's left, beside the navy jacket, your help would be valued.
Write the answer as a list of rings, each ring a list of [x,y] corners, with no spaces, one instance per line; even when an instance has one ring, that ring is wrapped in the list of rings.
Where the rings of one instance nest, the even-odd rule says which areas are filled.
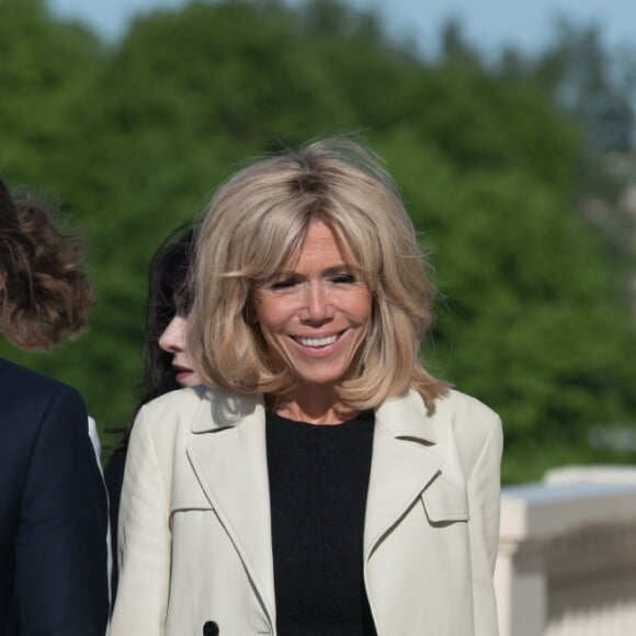
[[[161,636],[170,583],[169,503],[141,409],[130,434],[120,502],[120,581],[110,636]]]

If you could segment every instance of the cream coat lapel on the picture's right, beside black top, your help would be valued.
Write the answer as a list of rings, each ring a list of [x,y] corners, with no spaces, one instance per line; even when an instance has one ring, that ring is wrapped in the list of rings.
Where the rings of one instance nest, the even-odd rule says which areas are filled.
[[[440,475],[441,456],[428,446],[435,434],[414,391],[387,400],[375,414],[373,457],[364,529],[364,559]]]

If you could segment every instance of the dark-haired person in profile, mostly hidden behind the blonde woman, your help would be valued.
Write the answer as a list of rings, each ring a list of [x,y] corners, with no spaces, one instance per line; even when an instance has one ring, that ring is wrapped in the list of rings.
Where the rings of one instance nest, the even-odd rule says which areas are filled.
[[[168,391],[200,384],[186,350],[188,313],[192,300],[185,284],[194,240],[192,229],[177,230],[155,253],[148,271],[144,329],[144,395],[135,410]],[[132,424],[133,420],[130,420]],[[112,599],[117,590],[117,522],[130,427],[104,468],[110,498],[113,546]]]

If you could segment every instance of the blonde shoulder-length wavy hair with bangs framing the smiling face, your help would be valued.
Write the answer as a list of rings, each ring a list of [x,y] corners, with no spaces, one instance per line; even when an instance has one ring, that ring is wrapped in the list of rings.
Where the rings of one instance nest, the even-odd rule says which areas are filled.
[[[448,385],[419,360],[434,294],[427,263],[393,180],[370,150],[344,137],[264,158],[212,198],[195,248],[189,317],[200,377],[273,399],[294,388],[293,370],[269,364],[254,292],[298,253],[316,220],[333,231],[372,295],[368,334],[338,399],[373,409],[413,387],[432,407]]]

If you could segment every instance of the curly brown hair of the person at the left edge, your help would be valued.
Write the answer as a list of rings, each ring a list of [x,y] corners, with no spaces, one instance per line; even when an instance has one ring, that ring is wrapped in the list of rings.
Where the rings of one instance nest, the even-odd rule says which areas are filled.
[[[92,288],[83,243],[60,232],[33,196],[0,180],[0,331],[22,349],[49,349],[86,327]]]

